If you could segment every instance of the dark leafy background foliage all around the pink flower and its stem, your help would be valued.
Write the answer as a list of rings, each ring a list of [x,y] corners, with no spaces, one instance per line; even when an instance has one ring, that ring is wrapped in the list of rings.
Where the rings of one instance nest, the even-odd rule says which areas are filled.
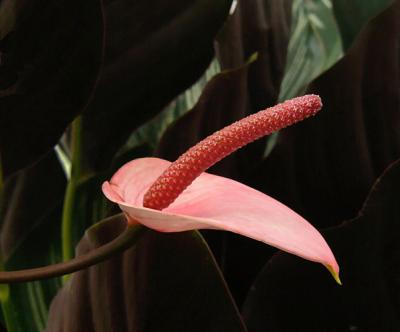
[[[397,331],[399,45],[398,0],[0,0],[2,269],[117,236],[120,218],[90,227],[126,161],[311,92],[321,115],[210,171],[331,227],[344,281],[236,235],[204,232],[211,253],[149,232],[64,286],[2,285],[8,331]]]

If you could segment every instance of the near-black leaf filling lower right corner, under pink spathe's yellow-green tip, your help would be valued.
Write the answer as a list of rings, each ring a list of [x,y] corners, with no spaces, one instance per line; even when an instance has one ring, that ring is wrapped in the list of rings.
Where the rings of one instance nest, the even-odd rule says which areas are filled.
[[[246,301],[249,330],[398,331],[399,196],[397,161],[376,181],[357,218],[324,232],[341,265],[342,287],[319,267],[276,254]]]

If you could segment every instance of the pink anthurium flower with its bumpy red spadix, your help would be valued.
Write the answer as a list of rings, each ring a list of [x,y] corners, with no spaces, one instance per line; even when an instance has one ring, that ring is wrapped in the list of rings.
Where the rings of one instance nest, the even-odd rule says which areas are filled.
[[[103,184],[128,222],[160,232],[218,229],[265,242],[322,263],[339,280],[339,266],[321,234],[296,212],[244,184],[204,171],[238,148],[314,115],[322,107],[307,95],[250,115],[210,135],[174,163],[133,160]]]

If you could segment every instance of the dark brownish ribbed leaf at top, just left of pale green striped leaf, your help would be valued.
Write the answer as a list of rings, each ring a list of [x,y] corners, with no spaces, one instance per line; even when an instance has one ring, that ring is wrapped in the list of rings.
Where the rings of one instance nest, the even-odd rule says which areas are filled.
[[[292,0],[238,1],[235,13],[219,33],[217,55],[223,69],[242,66],[258,54],[248,73],[252,112],[275,104],[290,37]]]

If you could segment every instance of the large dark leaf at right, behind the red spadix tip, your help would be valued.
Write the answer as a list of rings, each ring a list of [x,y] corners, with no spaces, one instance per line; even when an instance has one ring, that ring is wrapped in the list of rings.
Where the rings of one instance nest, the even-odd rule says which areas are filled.
[[[371,21],[315,81],[310,92],[321,96],[322,111],[281,131],[251,176],[255,188],[320,227],[354,217],[374,180],[400,155],[398,8]]]

